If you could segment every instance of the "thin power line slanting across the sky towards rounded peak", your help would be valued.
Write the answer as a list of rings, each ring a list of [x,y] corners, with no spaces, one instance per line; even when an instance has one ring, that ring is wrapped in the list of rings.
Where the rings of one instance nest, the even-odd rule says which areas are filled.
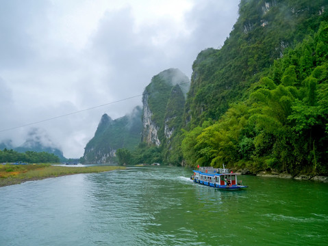
[[[187,83],[190,83],[190,82],[185,82],[185,83],[179,83],[177,85],[184,85],[184,84],[187,84]],[[172,85],[171,87],[175,87],[175,85]],[[74,115],[74,114],[77,114],[77,113],[81,113],[81,112],[85,112],[85,111],[89,111],[89,110],[92,110],[92,109],[97,109],[99,107],[104,107],[104,106],[107,106],[107,105],[112,105],[114,103],[117,103],[117,102],[123,102],[125,100],[129,100],[129,99],[132,99],[132,98],[136,98],[136,97],[139,97],[139,96],[143,96],[145,93],[143,94],[139,94],[139,95],[136,95],[136,96],[130,96],[128,98],[123,98],[121,100],[116,100],[114,102],[108,102],[108,103],[105,103],[103,105],[97,105],[97,106],[94,106],[94,107],[90,107],[88,109],[82,109],[82,110],[79,110],[79,111],[74,111],[74,112],[71,112],[71,113],[66,113],[64,115],[58,115],[58,116],[55,116],[55,117],[52,117],[52,118],[48,118],[48,119],[45,119],[45,120],[39,120],[37,122],[31,122],[31,123],[28,123],[28,124],[23,124],[21,126],[14,126],[14,127],[11,127],[11,128],[6,128],[6,129],[3,129],[3,130],[0,130],[0,133],[3,133],[5,131],[12,131],[12,130],[15,130],[15,129],[18,129],[18,128],[22,128],[22,127],[25,127],[25,126],[31,126],[31,125],[34,125],[34,124],[40,124],[42,122],[47,122],[47,121],[50,121],[50,120],[55,120],[55,119],[58,119],[58,118],[63,118],[63,117],[66,117],[68,115]]]

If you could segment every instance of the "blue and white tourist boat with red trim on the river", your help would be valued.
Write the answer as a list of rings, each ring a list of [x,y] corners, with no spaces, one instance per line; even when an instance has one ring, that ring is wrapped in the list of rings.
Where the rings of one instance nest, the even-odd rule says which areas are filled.
[[[207,185],[218,189],[236,191],[247,188],[238,180],[239,174],[229,172],[225,168],[199,167],[199,170],[193,170],[194,175],[190,177],[194,182]]]

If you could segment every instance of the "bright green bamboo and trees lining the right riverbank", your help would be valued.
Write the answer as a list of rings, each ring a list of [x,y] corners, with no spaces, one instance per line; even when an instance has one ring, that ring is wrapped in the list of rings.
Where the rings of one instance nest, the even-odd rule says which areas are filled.
[[[213,122],[185,131],[189,165],[328,173],[328,23],[276,59]]]

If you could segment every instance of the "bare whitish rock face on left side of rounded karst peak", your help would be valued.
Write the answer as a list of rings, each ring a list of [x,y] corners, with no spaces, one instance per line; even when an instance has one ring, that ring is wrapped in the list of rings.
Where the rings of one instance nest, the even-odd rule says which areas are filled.
[[[156,126],[155,122],[152,120],[153,113],[149,109],[148,103],[149,95],[144,94],[142,98],[143,105],[143,116],[142,116],[142,141],[147,143],[154,143],[156,146],[160,146],[160,139],[158,139],[157,132],[160,130],[159,126]]]

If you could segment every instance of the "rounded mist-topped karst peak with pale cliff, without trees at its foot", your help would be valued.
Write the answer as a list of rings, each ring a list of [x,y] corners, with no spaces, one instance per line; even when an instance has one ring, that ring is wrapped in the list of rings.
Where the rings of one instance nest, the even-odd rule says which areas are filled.
[[[178,128],[177,118],[181,119],[183,115],[189,85],[188,77],[174,68],[164,70],[151,79],[142,97],[143,142],[161,146],[172,137]]]

